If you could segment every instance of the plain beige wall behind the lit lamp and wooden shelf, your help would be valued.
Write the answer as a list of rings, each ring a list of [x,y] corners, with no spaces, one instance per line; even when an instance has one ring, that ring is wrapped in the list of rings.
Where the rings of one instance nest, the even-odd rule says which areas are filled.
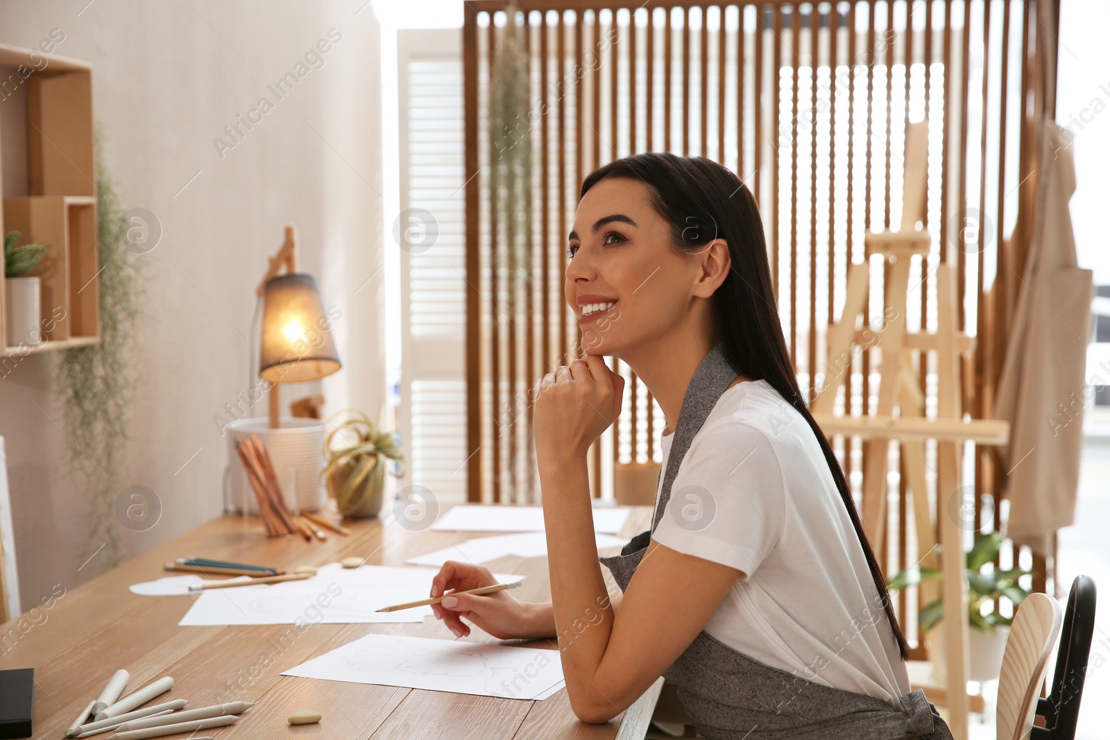
[[[58,53],[93,65],[94,112],[124,204],[149,209],[163,230],[144,256],[124,476],[153,489],[163,515],[147,533],[119,527],[130,557],[222,510],[225,440],[213,416],[248,388],[254,288],[289,222],[300,230],[301,268],[343,312],[334,335],[344,367],[322,383],[327,407],[383,415],[381,32],[363,0],[0,4],[0,43],[33,47],[56,28],[65,34]],[[268,85],[330,29],[342,38],[323,65],[221,156],[213,139],[223,126],[261,97],[275,101]],[[28,356],[0,379],[24,608],[105,565],[87,541],[83,493],[63,469],[57,361]]]

